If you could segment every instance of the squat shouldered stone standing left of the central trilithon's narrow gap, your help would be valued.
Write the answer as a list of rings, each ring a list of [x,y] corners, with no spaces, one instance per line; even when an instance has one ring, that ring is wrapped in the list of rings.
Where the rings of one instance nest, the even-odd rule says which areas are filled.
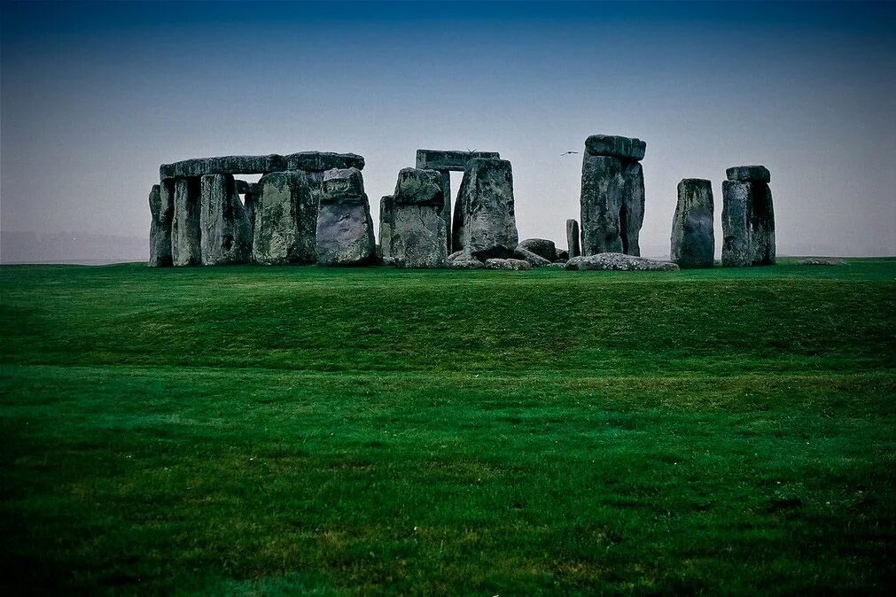
[[[380,202],[383,262],[399,268],[444,268],[448,230],[443,208],[440,173],[401,170],[394,195]]]

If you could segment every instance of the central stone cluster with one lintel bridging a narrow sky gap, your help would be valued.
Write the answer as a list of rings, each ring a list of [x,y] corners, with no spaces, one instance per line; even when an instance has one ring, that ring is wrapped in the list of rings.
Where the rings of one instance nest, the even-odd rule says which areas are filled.
[[[513,256],[519,237],[509,161],[492,152],[420,149],[417,164],[401,170],[395,192],[380,202],[385,264],[444,268],[449,252]],[[456,170],[463,179],[452,217],[449,173]]]

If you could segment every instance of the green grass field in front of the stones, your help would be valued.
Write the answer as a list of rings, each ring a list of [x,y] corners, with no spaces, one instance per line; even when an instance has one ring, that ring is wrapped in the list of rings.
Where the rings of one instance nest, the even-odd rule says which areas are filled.
[[[0,589],[896,579],[896,260],[13,266],[0,293]]]

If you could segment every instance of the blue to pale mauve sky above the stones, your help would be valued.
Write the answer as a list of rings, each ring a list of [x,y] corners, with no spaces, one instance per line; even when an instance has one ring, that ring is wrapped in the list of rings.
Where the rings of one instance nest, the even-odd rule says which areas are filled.
[[[682,178],[712,181],[720,246],[744,164],[771,170],[779,253],[896,254],[896,4],[0,11],[7,233],[146,237],[159,164],[304,150],[363,155],[378,219],[417,149],[478,149],[513,164],[520,237],[565,247],[583,142],[608,133],[647,141],[645,254],[668,255]]]

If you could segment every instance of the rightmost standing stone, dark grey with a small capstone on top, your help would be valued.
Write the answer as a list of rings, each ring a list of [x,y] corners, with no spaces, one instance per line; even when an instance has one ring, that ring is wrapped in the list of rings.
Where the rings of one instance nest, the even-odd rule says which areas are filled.
[[[765,166],[735,166],[722,182],[722,265],[775,262],[771,174]]]

